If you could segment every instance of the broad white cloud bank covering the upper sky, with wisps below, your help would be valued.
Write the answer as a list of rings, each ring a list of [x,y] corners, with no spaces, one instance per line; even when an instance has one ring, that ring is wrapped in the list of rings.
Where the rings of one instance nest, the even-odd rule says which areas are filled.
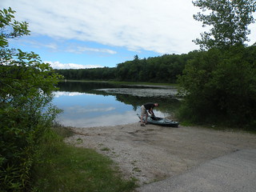
[[[128,50],[183,54],[198,49],[192,40],[200,38],[205,30],[193,18],[198,8],[191,0],[2,1],[2,6],[17,10],[18,20],[29,22],[35,34],[122,46]],[[255,27],[252,29],[255,34]],[[255,35],[250,38],[250,44],[256,41]],[[113,50],[89,47],[83,51],[115,54]]]

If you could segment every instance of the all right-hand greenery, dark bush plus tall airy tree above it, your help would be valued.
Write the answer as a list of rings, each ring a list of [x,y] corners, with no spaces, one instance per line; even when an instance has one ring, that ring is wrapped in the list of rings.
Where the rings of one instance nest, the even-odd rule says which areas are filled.
[[[254,22],[254,0],[194,1],[206,14],[194,18],[213,26],[194,42],[202,50],[186,64],[179,81],[186,100],[181,117],[192,122],[255,127],[256,48],[245,48]],[[254,128],[255,129],[255,128]]]

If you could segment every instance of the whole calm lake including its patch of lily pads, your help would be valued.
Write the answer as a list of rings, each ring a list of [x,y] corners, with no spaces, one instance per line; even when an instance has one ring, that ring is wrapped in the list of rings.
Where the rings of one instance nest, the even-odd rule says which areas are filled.
[[[57,122],[63,126],[115,126],[138,122],[140,106],[158,102],[158,117],[174,116],[179,101],[175,86],[117,85],[107,82],[59,82],[53,103],[64,110]]]

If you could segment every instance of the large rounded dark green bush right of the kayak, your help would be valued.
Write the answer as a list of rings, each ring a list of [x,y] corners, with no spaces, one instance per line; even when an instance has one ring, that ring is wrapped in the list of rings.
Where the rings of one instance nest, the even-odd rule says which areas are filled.
[[[256,47],[211,49],[190,60],[179,77],[182,117],[192,122],[255,126]]]

